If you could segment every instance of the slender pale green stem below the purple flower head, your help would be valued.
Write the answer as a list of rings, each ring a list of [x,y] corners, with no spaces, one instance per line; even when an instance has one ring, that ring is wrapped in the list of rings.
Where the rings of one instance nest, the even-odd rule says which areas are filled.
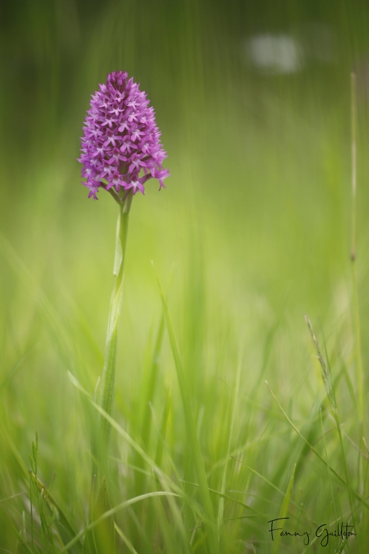
[[[105,344],[104,368],[102,370],[100,406],[109,415],[114,409],[114,397],[116,390],[116,352],[120,310],[123,299],[123,274],[125,262],[125,246],[127,242],[129,210],[132,203],[132,191],[129,192],[125,202],[119,206],[119,217],[116,229],[116,254],[114,260],[115,283],[111,294],[109,323],[107,326],[107,341]],[[100,416],[99,440],[102,452],[100,461],[107,458],[107,449],[111,434],[111,425]]]

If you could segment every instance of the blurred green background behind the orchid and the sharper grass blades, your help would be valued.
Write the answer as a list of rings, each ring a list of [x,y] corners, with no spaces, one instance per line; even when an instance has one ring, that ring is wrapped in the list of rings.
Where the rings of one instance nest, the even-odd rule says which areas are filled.
[[[28,467],[37,430],[42,480],[50,483],[56,473],[53,493],[76,528],[88,517],[89,412],[66,371],[93,393],[102,369],[118,214],[109,195],[87,200],[76,158],[89,95],[109,71],[123,69],[152,101],[171,177],[161,193],[150,181],[132,206],[116,418],[142,442],[161,319],[150,260],[164,283],[174,266],[169,305],[210,487],[220,490],[223,466],[214,466],[227,453],[243,350],[231,451],[249,445],[237,457],[282,490],[298,463],[292,497],[304,503],[300,521],[323,523],[332,515],[327,469],[290,433],[264,379],[299,428],[307,425],[323,395],[307,312],[320,338],[319,321],[325,332],[343,428],[363,448],[350,275],[350,72],[358,79],[357,267],[366,392],[366,2],[25,0],[1,10],[0,499],[26,490],[17,456]],[[163,467],[173,472],[172,458],[177,477],[193,482],[166,336],[150,401],[159,425],[170,402]],[[313,420],[309,434],[317,440],[321,423]],[[153,418],[145,445],[153,457],[158,437]],[[343,475],[334,431],[327,441],[331,463]],[[137,463],[129,447],[117,437],[114,443],[112,454],[123,461],[114,485],[118,503],[151,485],[140,484],[127,467]],[[321,440],[318,447],[323,452]],[[364,494],[357,450],[348,440],[345,447],[352,486]],[[269,519],[278,517],[280,495],[246,467],[228,464],[227,490],[248,492],[235,496]],[[196,497],[195,490],[186,492]],[[335,494],[345,522],[348,495]],[[226,501],[224,517],[243,517],[242,509]],[[0,504],[0,546],[11,552],[23,552],[17,536],[22,511],[28,526],[23,496]],[[120,515],[121,527],[140,552],[206,552],[204,530],[188,533],[199,522],[188,510],[181,515],[184,535],[177,522],[174,538],[165,535],[159,517],[147,524],[139,510],[138,521],[135,512]],[[229,521],[225,551],[271,551],[267,521]],[[367,512],[360,522],[355,544],[364,552]],[[303,551],[298,539],[280,548]],[[345,548],[355,551],[354,544]]]

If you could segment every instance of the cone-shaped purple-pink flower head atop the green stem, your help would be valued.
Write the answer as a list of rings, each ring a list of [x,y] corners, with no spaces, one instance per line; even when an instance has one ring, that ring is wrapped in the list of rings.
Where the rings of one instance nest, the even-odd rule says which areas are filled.
[[[167,156],[154,109],[146,93],[127,77],[123,71],[107,75],[107,83],[99,84],[100,91],[92,95],[84,121],[78,161],[83,164],[89,198],[95,200],[100,187],[114,187],[117,193],[132,188],[134,194],[137,190],[144,194],[148,179],[158,179],[160,190],[169,176],[162,166]]]

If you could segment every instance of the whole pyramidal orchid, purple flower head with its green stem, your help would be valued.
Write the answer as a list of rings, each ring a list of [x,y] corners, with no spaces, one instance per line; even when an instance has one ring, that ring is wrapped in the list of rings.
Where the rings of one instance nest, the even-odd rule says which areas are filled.
[[[159,181],[169,176],[162,166],[166,158],[161,145],[155,112],[149,106],[146,93],[141,91],[127,73],[114,71],[107,82],[99,85],[91,98],[84,120],[82,149],[82,183],[89,189],[89,198],[98,199],[100,189],[109,191],[119,205],[114,262],[114,289],[111,296],[104,367],[98,404],[108,415],[114,408],[116,383],[116,354],[118,322],[123,298],[123,269],[129,211],[134,195],[145,193],[149,179]],[[96,397],[97,398],[97,397]],[[93,474],[107,470],[107,449],[111,426],[107,418],[98,415],[98,436],[93,440]]]

